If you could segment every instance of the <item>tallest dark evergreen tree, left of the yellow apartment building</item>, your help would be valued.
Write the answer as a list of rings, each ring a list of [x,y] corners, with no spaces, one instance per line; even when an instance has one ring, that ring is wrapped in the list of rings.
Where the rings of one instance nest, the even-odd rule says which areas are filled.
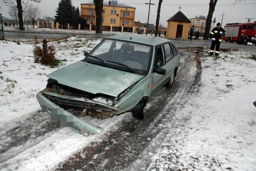
[[[54,16],[54,22],[58,22],[62,28],[67,28],[68,23],[72,24],[74,20],[74,8],[71,0],[60,0]]]

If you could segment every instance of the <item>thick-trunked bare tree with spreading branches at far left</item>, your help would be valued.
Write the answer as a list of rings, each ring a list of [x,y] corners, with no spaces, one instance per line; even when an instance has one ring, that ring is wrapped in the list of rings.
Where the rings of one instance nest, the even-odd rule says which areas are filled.
[[[41,2],[41,0],[30,0],[30,1],[34,1],[34,2]],[[23,26],[23,11],[25,10],[24,7],[26,7],[26,5],[28,4],[28,0],[3,0],[3,2],[7,5],[7,6],[16,6],[16,8],[18,9],[18,18],[19,18],[19,30],[24,30],[24,26]],[[27,4],[26,4],[27,3]],[[23,6],[23,7],[22,7]]]

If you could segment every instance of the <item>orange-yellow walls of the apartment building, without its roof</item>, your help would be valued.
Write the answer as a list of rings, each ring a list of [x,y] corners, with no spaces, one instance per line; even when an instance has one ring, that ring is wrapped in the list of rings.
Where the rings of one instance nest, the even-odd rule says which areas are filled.
[[[122,27],[124,28],[132,28],[134,26],[134,18],[135,18],[135,10],[136,8],[126,8],[126,7],[118,7],[118,6],[103,6],[103,15],[102,26],[113,26],[113,27]],[[114,14],[111,14],[114,11]],[[130,13],[129,16],[124,16],[124,12]],[[92,18],[92,22],[87,21],[87,24],[96,24],[96,13],[95,13],[95,5],[81,4],[81,16],[84,19]],[[123,24],[123,20],[126,20],[128,24]],[[115,22],[113,22],[115,21]]]

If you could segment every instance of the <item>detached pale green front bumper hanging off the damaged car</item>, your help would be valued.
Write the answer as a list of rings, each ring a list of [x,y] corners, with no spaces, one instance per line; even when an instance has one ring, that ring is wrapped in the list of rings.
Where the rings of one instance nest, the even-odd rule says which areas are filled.
[[[67,112],[60,106],[54,104],[46,97],[43,96],[42,92],[36,94],[36,98],[40,106],[51,115],[52,121],[59,121],[62,127],[71,127],[76,132],[84,136],[89,136],[92,134],[99,134],[103,128],[99,126],[94,126],[84,120],[79,119],[73,114]]]

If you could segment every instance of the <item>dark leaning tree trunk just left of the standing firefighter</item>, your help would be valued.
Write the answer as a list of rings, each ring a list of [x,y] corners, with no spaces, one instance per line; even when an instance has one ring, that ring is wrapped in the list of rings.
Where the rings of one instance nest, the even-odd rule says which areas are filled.
[[[215,6],[218,0],[210,0],[209,3],[209,12],[206,18],[206,26],[204,31],[204,38],[203,40],[208,40],[210,35],[211,23],[212,23],[212,14],[215,10]]]

